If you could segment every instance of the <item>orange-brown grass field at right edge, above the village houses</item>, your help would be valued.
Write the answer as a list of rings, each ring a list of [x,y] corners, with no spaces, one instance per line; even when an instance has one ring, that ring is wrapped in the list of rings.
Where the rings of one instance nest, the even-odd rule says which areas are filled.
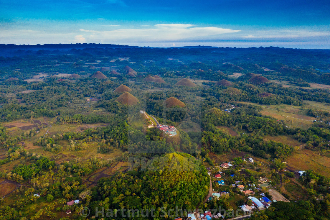
[[[330,158],[320,155],[318,151],[302,149],[289,156],[286,161],[286,166],[293,171],[312,169],[330,177]]]

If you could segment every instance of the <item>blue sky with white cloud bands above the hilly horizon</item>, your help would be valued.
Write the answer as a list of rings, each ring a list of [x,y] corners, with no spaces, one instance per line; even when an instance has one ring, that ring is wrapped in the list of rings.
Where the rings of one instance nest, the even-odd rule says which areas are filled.
[[[0,0],[1,44],[330,49],[330,0]]]

